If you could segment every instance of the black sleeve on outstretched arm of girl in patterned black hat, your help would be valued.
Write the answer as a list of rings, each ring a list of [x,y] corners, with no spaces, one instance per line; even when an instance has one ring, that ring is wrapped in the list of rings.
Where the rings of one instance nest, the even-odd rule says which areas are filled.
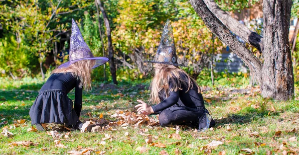
[[[169,89],[172,87],[172,83],[169,82]],[[169,92],[169,97],[163,100],[161,103],[151,106],[153,112],[158,112],[169,108],[170,106],[176,104],[179,99],[179,90]]]

